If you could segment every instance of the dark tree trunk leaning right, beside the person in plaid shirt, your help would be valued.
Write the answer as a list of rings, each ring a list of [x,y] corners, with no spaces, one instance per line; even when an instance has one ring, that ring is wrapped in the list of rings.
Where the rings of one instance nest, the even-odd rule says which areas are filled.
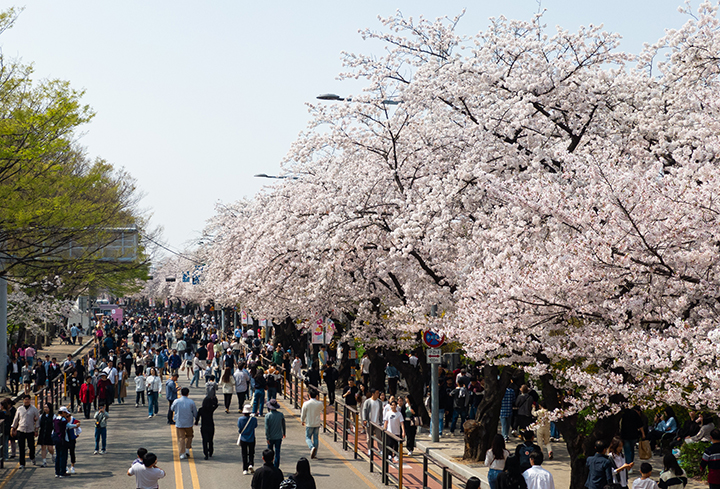
[[[515,372],[516,369],[513,367],[503,367],[501,373],[495,365],[483,367],[483,378],[485,379],[483,399],[478,405],[475,419],[469,419],[463,425],[465,430],[464,460],[485,460],[485,452],[490,449],[493,437],[498,432],[500,407],[505,390],[510,385],[510,380]]]

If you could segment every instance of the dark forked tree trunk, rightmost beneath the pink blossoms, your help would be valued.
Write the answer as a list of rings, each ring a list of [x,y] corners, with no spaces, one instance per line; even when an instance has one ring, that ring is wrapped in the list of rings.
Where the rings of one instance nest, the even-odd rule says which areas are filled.
[[[543,376],[543,398],[547,403],[548,411],[562,407],[562,399],[558,390],[550,383],[549,375]],[[612,400],[612,399],[611,399]],[[601,412],[601,409],[598,409]],[[565,445],[570,455],[570,487],[569,489],[584,489],[588,476],[585,465],[587,457],[595,453],[595,442],[604,440],[610,443],[613,436],[618,432],[620,426],[620,414],[599,418],[590,434],[583,434],[580,417],[575,414],[555,422],[558,431],[565,440]]]

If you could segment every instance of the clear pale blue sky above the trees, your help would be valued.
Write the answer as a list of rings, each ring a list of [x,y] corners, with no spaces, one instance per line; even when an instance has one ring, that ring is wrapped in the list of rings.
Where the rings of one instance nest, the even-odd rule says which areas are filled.
[[[693,4],[697,6],[698,0]],[[681,26],[681,0],[543,0],[548,27],[604,24],[638,52]],[[6,7],[23,4],[5,3]],[[251,197],[276,174],[320,93],[358,93],[339,82],[341,51],[380,53],[364,42],[377,16],[454,16],[462,34],[491,16],[530,19],[536,0],[29,0],[0,36],[6,57],[34,63],[36,78],[85,89],[97,112],[80,142],[90,156],[124,167],[142,206],[181,250],[215,204]]]

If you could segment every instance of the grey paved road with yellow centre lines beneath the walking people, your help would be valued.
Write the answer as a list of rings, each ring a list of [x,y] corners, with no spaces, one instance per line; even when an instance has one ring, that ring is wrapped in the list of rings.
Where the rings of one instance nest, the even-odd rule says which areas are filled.
[[[182,383],[182,382],[181,382]],[[132,387],[128,389],[131,393]],[[134,394],[134,393],[133,393]],[[204,389],[191,389],[190,397],[199,405]],[[94,423],[83,423],[83,433],[77,445],[77,474],[67,479],[55,479],[51,467],[39,468],[28,464],[24,471],[11,472],[0,489],[73,487],[97,489],[98,487],[134,488],[134,477],[127,476],[127,469],[135,458],[138,447],[145,447],[158,456],[158,465],[167,472],[160,487],[174,489],[227,489],[228,487],[250,487],[250,475],[242,474],[240,448],[237,440],[237,399],[231,406],[231,414],[225,414],[220,396],[220,407],[215,412],[215,454],[206,461],[202,455],[199,427],[195,428],[193,456],[190,460],[179,460],[177,449],[172,450],[173,431],[166,424],[165,414],[168,403],[160,399],[161,415],[147,418],[147,408],[135,408],[134,403],[113,405],[108,421],[108,447],[105,455],[93,455]],[[127,401],[134,401],[128,398]],[[280,468],[286,475],[293,473],[299,457],[310,459],[305,445],[304,428],[296,414],[288,410],[289,403],[283,402],[288,427],[288,436],[283,441]],[[81,415],[81,422],[83,422]],[[258,450],[255,466],[261,465],[262,444],[264,441],[262,418],[256,434]],[[318,488],[338,487],[343,489],[375,489],[381,487],[379,478],[367,472],[367,465],[351,461],[341,454],[340,447],[332,439],[321,436],[318,459],[311,461],[312,473]],[[383,486],[385,487],[385,486]]]

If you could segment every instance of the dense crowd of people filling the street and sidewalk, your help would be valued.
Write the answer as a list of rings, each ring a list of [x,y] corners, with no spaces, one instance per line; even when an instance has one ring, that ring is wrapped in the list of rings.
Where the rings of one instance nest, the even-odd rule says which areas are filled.
[[[412,396],[400,395],[400,373],[395,366],[385,367],[386,389],[371,389],[367,355],[359,360],[356,375],[340,379],[336,358],[324,345],[315,358],[307,358],[308,362],[280,343],[264,341],[262,330],[257,333],[243,328],[223,330],[207,314],[130,312],[128,319],[120,324],[102,320],[93,325],[95,348],[83,358],[73,359],[68,355],[59,363],[49,355],[38,358],[33,346],[13,347],[8,362],[9,380],[23,404],[16,409],[10,399],[5,399],[0,418],[9,421],[5,423],[9,439],[6,453],[10,452],[9,456],[13,457],[19,444],[21,467],[25,466],[28,449],[33,464],[44,467],[52,460],[56,477],[73,474],[75,443],[82,433],[82,423],[90,419],[95,428],[94,453],[106,453],[111,408],[113,404],[125,403],[128,387],[132,386],[134,405],[136,408],[147,406],[148,419],[160,414],[160,399],[164,397],[167,403],[164,418],[174,425],[180,459],[191,456],[194,429],[198,425],[203,456],[205,460],[212,458],[216,410],[221,405],[225,414],[237,409],[237,445],[243,474],[253,475],[254,488],[279,488],[285,481],[279,465],[287,429],[277,395],[283,376],[287,375],[302,379],[308,388],[309,399],[303,402],[300,419],[305,427],[310,459],[318,456],[324,409],[320,401],[321,383],[326,385],[325,394],[331,404],[337,395],[347,406],[358,409],[361,429],[366,433],[371,433],[375,425],[393,435],[387,438],[390,462],[399,462],[397,440],[404,440],[408,455],[413,455],[417,430],[422,425],[421,409]],[[83,331],[73,327],[76,329],[71,328],[70,337],[81,338]],[[412,355],[408,358],[410,365],[416,366],[417,361]],[[309,368],[305,370],[307,363]],[[36,409],[30,394],[63,374],[67,375],[68,405],[54,411],[52,404],[41,403],[41,409]],[[189,384],[181,386],[181,377]],[[193,387],[203,393],[199,405],[190,399]],[[288,388],[293,388],[292,383]],[[484,389],[477,369],[440,368],[438,428],[441,436],[454,436],[456,430],[463,433],[465,421],[475,417]],[[426,390],[424,401],[429,408],[432,390],[429,384]],[[264,418],[262,429],[267,448],[262,452],[262,467],[255,470],[259,418]],[[552,474],[542,464],[545,454],[547,459],[553,459],[552,442],[558,441],[559,434],[554,423],[548,421],[545,403],[537,392],[523,382],[511,383],[502,400],[499,422],[500,433],[485,457],[491,489],[553,489]],[[664,450],[663,471],[659,480],[653,481],[649,464],[641,464],[640,477],[633,482],[633,487],[655,489],[653,484],[656,484],[660,489],[682,489],[687,476],[669,450],[701,441],[713,443],[703,457],[703,467],[710,471],[711,489],[717,489],[713,486],[718,482],[716,479],[720,479],[720,433],[710,413],[690,413],[689,421],[679,426],[669,407],[659,413],[653,423],[648,422],[642,410],[634,407],[623,413],[620,426],[609,444],[598,442],[596,454],[588,457],[588,489],[628,487],[635,467],[635,449],[645,442],[651,450]],[[520,438],[514,450],[508,447],[512,437]],[[283,489],[314,487],[314,482],[308,482],[312,479],[309,467],[307,458],[298,461],[293,480],[296,486],[286,483]],[[138,483],[145,483],[152,478],[157,481],[165,473],[157,467],[153,453],[140,449],[128,475],[134,475]],[[273,485],[268,486],[268,481],[273,481]],[[468,484],[470,487],[471,481]]]

